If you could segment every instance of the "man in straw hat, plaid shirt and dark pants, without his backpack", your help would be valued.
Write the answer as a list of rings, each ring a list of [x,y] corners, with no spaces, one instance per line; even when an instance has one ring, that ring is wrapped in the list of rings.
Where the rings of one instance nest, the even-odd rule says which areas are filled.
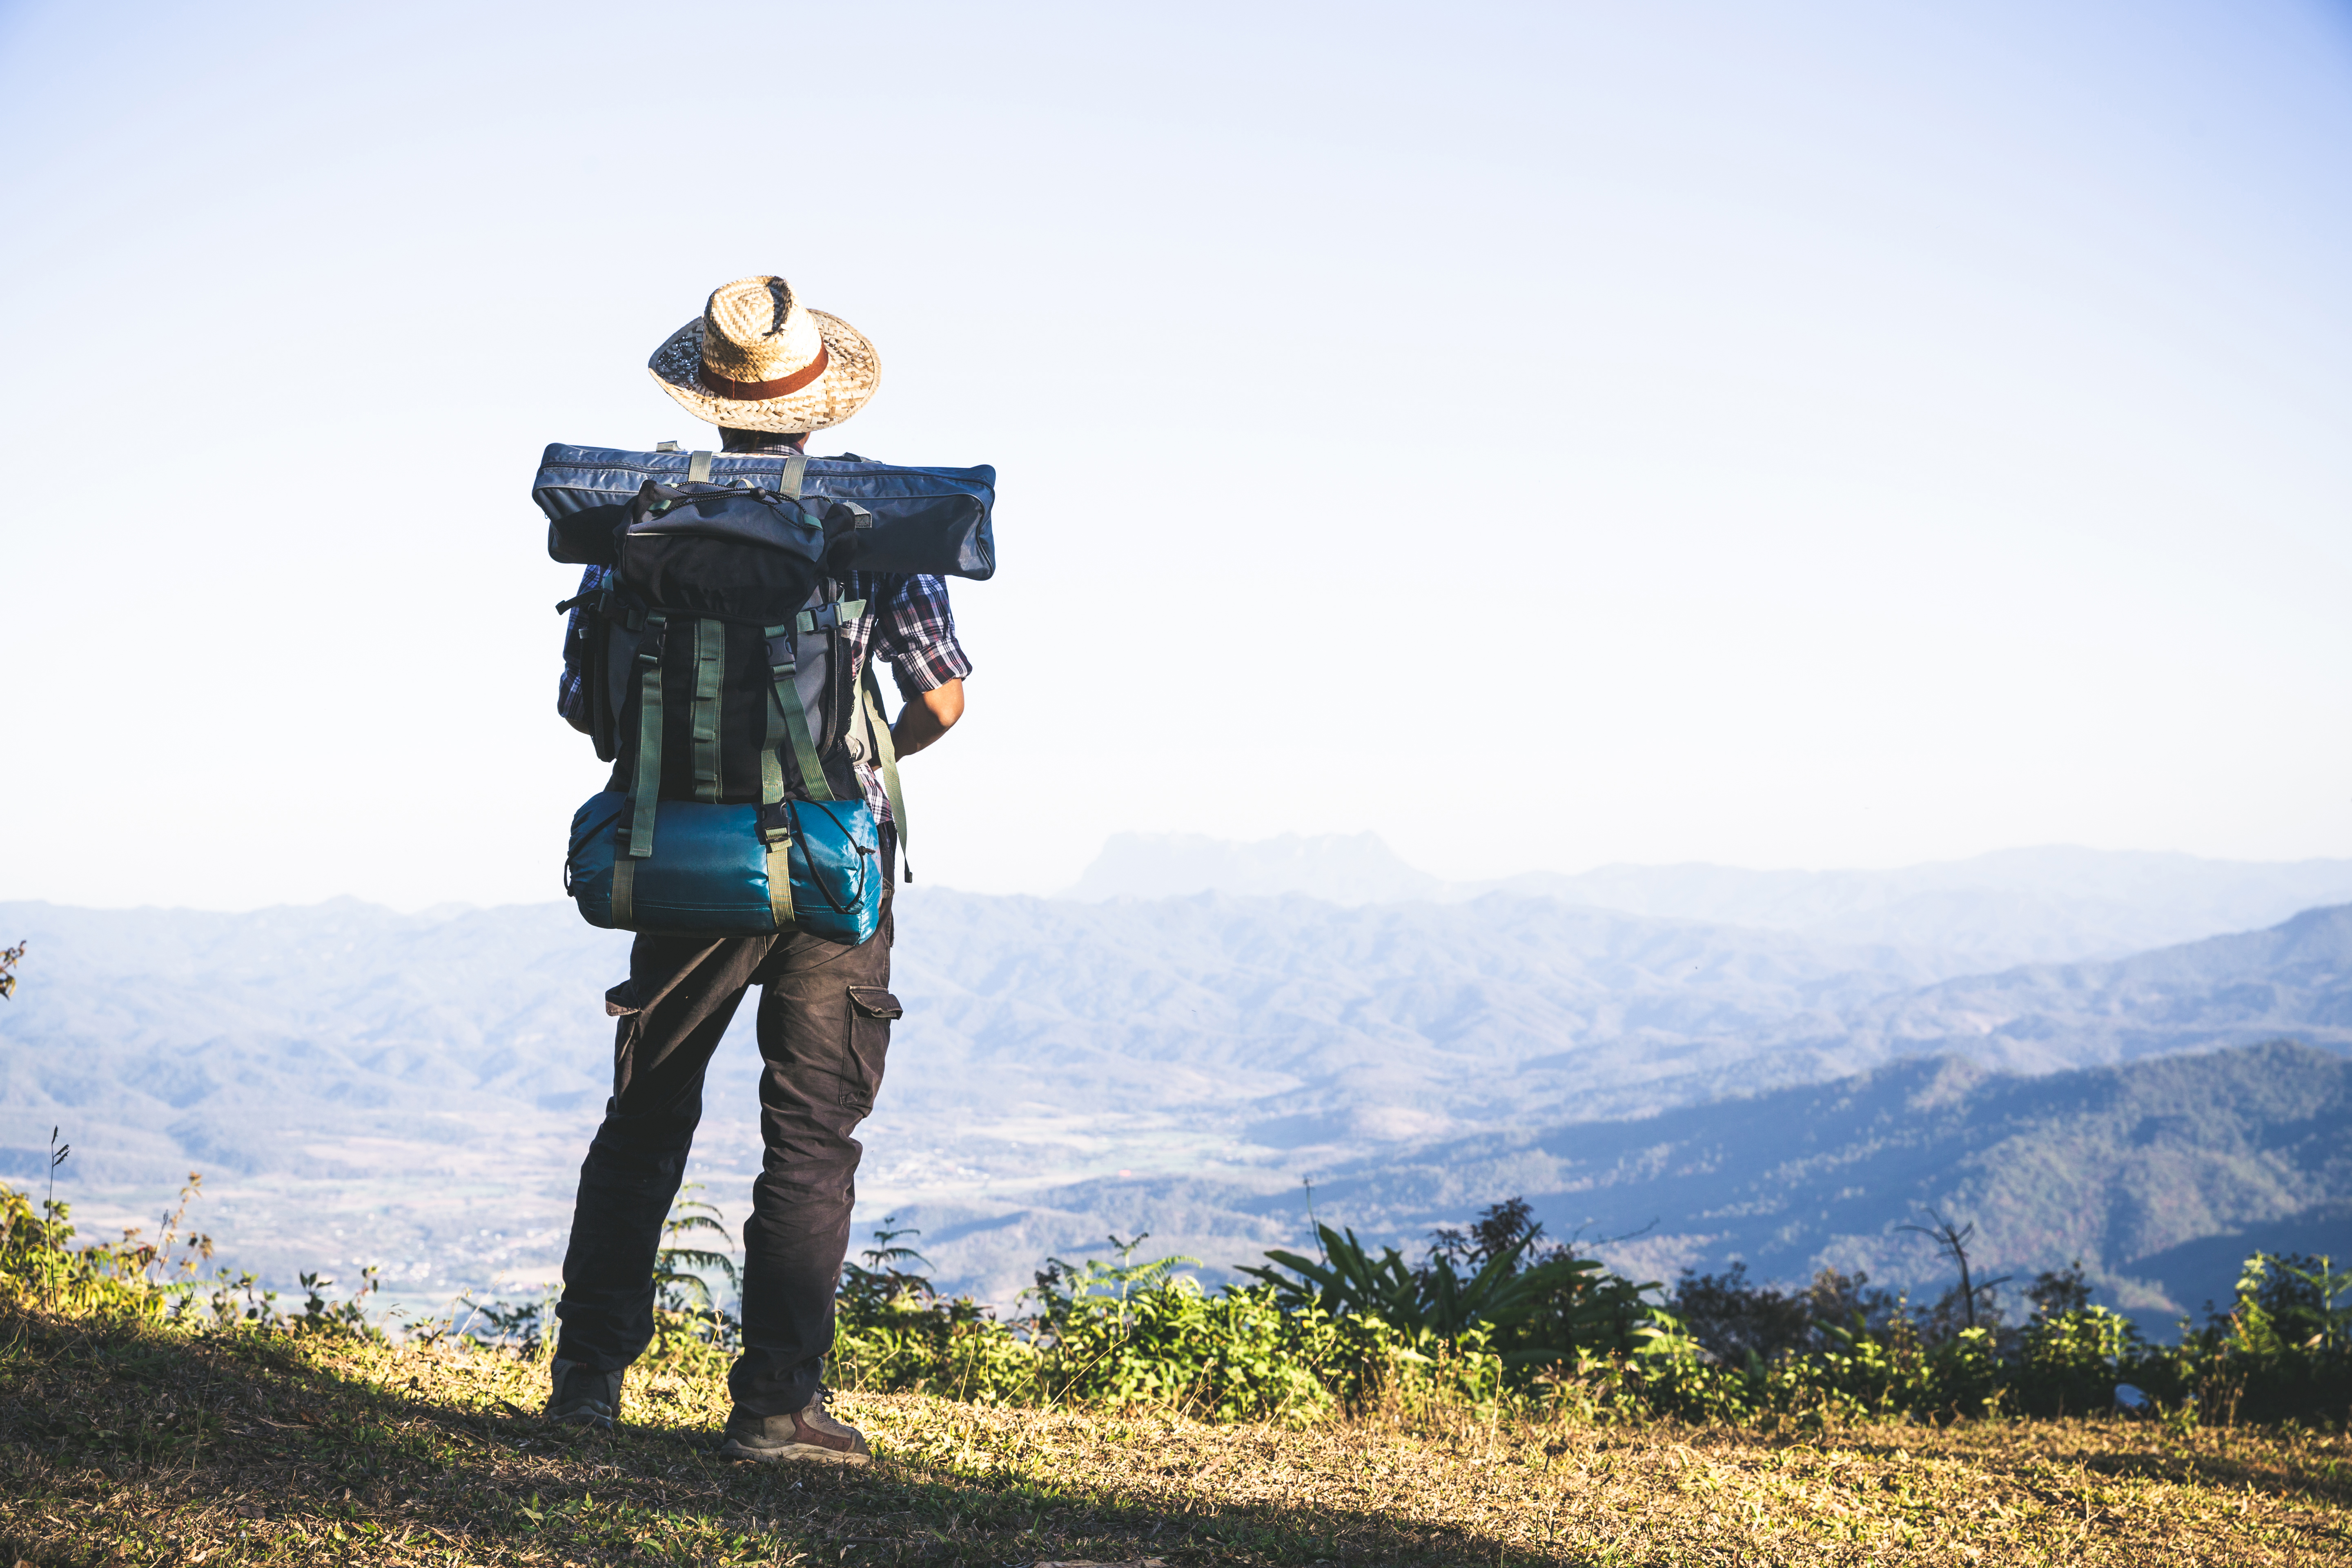
[[[804,308],[781,277],[717,289],[699,320],[654,350],[654,378],[696,418],[720,425],[727,451],[788,456],[809,433],[856,414],[880,362],[847,322]],[[828,597],[863,602],[833,644],[856,691],[866,663],[889,661],[906,708],[896,755],[920,752],[964,712],[971,661],[955,642],[936,576],[856,574]],[[574,611],[574,616],[581,611]],[[588,729],[586,682],[569,649],[562,715]],[[847,729],[847,726],[844,726]],[[854,741],[833,736],[826,750]],[[849,1208],[863,1145],[849,1133],[873,1110],[898,1004],[889,994],[896,825],[877,759],[854,748],[866,804],[882,823],[882,924],[858,945],[802,931],[750,938],[640,933],[628,980],[604,997],[619,1018],[614,1095],[581,1164],[564,1253],[562,1333],[548,1415],[612,1427],[621,1373],[654,1338],[654,1255],[703,1112],[703,1070],[736,1004],[757,1011],[760,1133],[767,1157],[743,1227],[743,1354],[727,1378],[734,1415],[722,1455],[863,1465],[866,1439],[826,1413],[833,1295],[849,1248]]]

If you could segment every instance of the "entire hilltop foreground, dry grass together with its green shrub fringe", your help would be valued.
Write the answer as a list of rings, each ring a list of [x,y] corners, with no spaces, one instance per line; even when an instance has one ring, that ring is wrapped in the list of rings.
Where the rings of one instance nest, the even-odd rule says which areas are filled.
[[[2023,1418],[2032,1366],[2112,1380],[2129,1338],[2060,1302],[2049,1324],[2105,1338],[1936,1340],[1851,1281],[1816,1281],[1835,1312],[1684,1281],[1677,1316],[1508,1204],[1484,1241],[1442,1237],[1444,1267],[1327,1232],[1214,1295],[1122,1244],[1049,1265],[1018,1324],[938,1298],[884,1234],[844,1281],[835,1399],[875,1465],[755,1467],[715,1455],[731,1321],[696,1213],[623,1429],[581,1434],[536,1415],[536,1307],[393,1335],[329,1281],[280,1305],[205,1276],[176,1222],[78,1244],[64,1206],[0,1190],[0,1561],[2352,1561],[2340,1425],[2244,1418],[2249,1368],[2333,1366],[2336,1328],[2293,1316],[2310,1281],[2258,1272],[2239,1326],[2176,1361],[2234,1375],[2234,1406],[2126,1418],[2093,1380],[2100,1415]],[[1703,1352],[1738,1326],[1738,1363]],[[1526,1354],[1555,1335],[1571,1354]]]

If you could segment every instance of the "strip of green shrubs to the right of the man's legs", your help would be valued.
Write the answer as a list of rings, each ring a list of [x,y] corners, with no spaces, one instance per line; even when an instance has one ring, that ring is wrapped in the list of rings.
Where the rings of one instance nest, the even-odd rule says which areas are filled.
[[[1825,1269],[1802,1291],[1733,1267],[1668,1295],[1543,1241],[1517,1199],[1439,1232],[1409,1265],[1319,1227],[1322,1253],[1268,1253],[1256,1284],[1202,1291],[1183,1258],[1054,1260],[1033,1312],[1000,1321],[941,1295],[882,1232],[842,1288],[835,1378],[873,1392],[1000,1403],[1160,1403],[1209,1420],[1312,1422],[1388,1401],[1583,1420],[1825,1429],[1867,1420],[2098,1415],[2122,1406],[2176,1429],[2244,1420],[2340,1427],[2352,1415],[2352,1274],[2326,1258],[2246,1260],[2237,1293],[2176,1345],[2093,1307],[2079,1265],[2025,1291],[1966,1265],[1926,1307]],[[673,1302],[684,1307],[684,1300]],[[701,1314],[724,1342],[724,1314]]]

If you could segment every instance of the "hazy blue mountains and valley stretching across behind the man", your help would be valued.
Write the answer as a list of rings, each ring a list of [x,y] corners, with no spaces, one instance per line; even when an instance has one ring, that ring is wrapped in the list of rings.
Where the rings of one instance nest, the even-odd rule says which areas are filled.
[[[1112,842],[1082,891],[1117,893],[1134,867],[1167,865],[1169,844]],[[1851,1237],[1879,1237],[1929,1190],[2013,1208],[2006,1190],[1978,1194],[1962,1171],[1992,1121],[1922,1145],[1955,1173],[1945,1187],[1917,1173],[1903,1185],[1865,1161],[1872,1175],[1858,1185],[1877,1208],[1863,1204],[1828,1229],[1780,1225],[1773,1237],[1795,1237],[1780,1241],[1708,1218],[1722,1204],[1766,1201],[1738,1182],[1764,1180],[1799,1201],[1795,1175],[1757,1175],[1795,1168],[1759,1164],[1764,1145],[1700,1171],[1696,1187],[1639,1197],[1639,1185],[1559,1164],[1564,1145],[1548,1128],[1684,1147],[1700,1133],[1675,1133],[1672,1117],[1818,1121],[1820,1103],[1771,1095],[1865,1072],[1879,1072],[1867,1079],[1877,1088],[1853,1093],[1907,1105],[1924,1091],[1886,1072],[1945,1074],[1940,1084],[1964,1072],[1905,1063],[1931,1053],[1973,1063],[1966,1072],[2058,1072],[2274,1037],[2352,1044],[2352,907],[2122,959],[1971,969],[1971,954],[2004,940],[2105,952],[2129,929],[2119,907],[2169,931],[2213,910],[2270,910],[2298,889],[2338,886],[2343,863],[2018,851],[1962,863],[1973,870],[1806,879],[1618,867],[1552,879],[1578,884],[1576,896],[1519,879],[1475,896],[1371,900],[1367,867],[1385,851],[1369,851],[1277,839],[1209,856],[1218,875],[1240,867],[1244,886],[1305,877],[1298,867],[1348,877],[1345,903],[1296,891],[1042,900],[908,889],[894,980],[908,1018],[863,1133],[861,1208],[920,1215],[941,1274],[997,1298],[1025,1284],[1044,1251],[1101,1246],[1112,1227],[1150,1227],[1211,1262],[1296,1244],[1303,1175],[1327,1185],[1331,1213],[1395,1239],[1461,1220],[1505,1187],[1590,1187],[1613,1197],[1545,1213],[1590,1218],[1595,1234],[1658,1220],[1628,1253],[1644,1267],[1740,1253],[1797,1274],[1809,1258],[1867,1253],[1875,1272],[1900,1279],[1933,1260],[1870,1253],[1875,1244]],[[1604,886],[1651,907],[1602,907]],[[2343,886],[2352,891],[2352,877]],[[2027,893],[2042,924],[1999,926],[1999,900]],[[1926,919],[1926,907],[1943,914]],[[75,1157],[61,1194],[82,1215],[127,1222],[151,1218],[198,1166],[223,1253],[282,1279],[381,1258],[421,1295],[543,1276],[560,1255],[572,1173],[609,1081],[600,992],[626,961],[626,938],[593,931],[569,905],[0,905],[0,936],[33,943],[16,999],[0,1004],[0,1173],[38,1173],[49,1126],[64,1126]],[[696,1147],[696,1175],[729,1211],[757,1159],[753,1063],[748,1039],[722,1046]],[[1708,1105],[1724,1095],[1762,1098]],[[2009,1114],[1994,1088],[1962,1103],[1980,1107],[1971,1124]],[[2296,1138],[2340,1147],[2343,1103],[2331,1105]],[[2267,1138],[2260,1128],[2281,1114],[2246,1112],[2227,1135]],[[2209,1131],[2220,1135],[2180,1131],[2185,1147],[2204,1147]],[[2194,1211],[2204,1218],[2161,1232],[2173,1237],[2164,1246],[2303,1222],[2293,1215],[2352,1197],[2340,1161],[2296,1159],[2317,1175],[2279,1175],[2260,1199],[2244,1185],[2232,1187],[2239,1197],[2206,1194]],[[2197,1192],[2227,1187],[2213,1171]],[[1618,1199],[1656,1213],[1632,1220],[1632,1208],[1611,1206]],[[2117,1199],[2131,1201],[2143,1199]],[[1578,1204],[1590,1213],[1571,1220]],[[1879,1229],[1849,1227],[1870,1215]],[[2006,1225],[1992,1211],[1980,1218],[1987,1234]],[[2056,1229],[2013,1229],[2034,1237],[2018,1246],[2039,1248],[2042,1262],[2063,1262]],[[2093,1253],[2131,1305],[2187,1305],[2171,1274],[2131,1272],[2143,1251]]]

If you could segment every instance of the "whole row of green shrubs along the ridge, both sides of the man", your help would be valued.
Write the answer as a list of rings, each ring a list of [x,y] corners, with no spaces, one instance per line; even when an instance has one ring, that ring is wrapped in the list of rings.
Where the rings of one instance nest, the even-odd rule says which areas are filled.
[[[381,1335],[365,1298],[303,1274],[299,1309],[280,1307],[252,1274],[216,1269],[207,1237],[183,1232],[188,1201],[155,1239],[82,1241],[66,1204],[35,1204],[0,1185],[0,1302],[19,1312],[127,1314],[200,1333]],[[1515,1218],[1517,1215],[1517,1218]],[[1411,1265],[1369,1253],[1352,1232],[1324,1229],[1324,1260],[1268,1253],[1249,1284],[1207,1291],[1190,1258],[1136,1260],[1143,1237],[1112,1237],[1112,1258],[1047,1260],[1023,1309],[1000,1319],[971,1298],[941,1295],[924,1258],[877,1232],[863,1265],[842,1274],[830,1380],[847,1389],[913,1389],[995,1403],[1145,1403],[1209,1420],[1303,1422],[1331,1413],[1409,1418],[1435,1406],[1548,1408],[1592,1420],[1670,1415],[1693,1422],[1966,1420],[1997,1413],[2086,1415],[2114,1408],[2119,1382],[2140,1387],[2173,1422],[2317,1420],[2352,1415],[2352,1274],[2326,1258],[2256,1253],[2225,1312],[2183,1324],[2178,1345],[2147,1345],[2131,1321],[2089,1305],[2079,1269],[2044,1274],[2023,1328],[1936,1331],[1933,1314],[1865,1293],[1860,1279],[1816,1281],[1804,1298],[1726,1274],[1691,1291],[1703,1328],[1762,1326],[1738,1359],[1710,1349],[1693,1324],[1649,1300],[1656,1286],[1585,1258],[1541,1253],[1524,1206],[1486,1211],[1484,1239]],[[1484,1225],[1484,1220],[1482,1220]],[[659,1354],[724,1373],[736,1342],[731,1302],[708,1279],[734,1260],[696,1246],[720,1232],[687,1199],[666,1234]],[[1689,1281],[1686,1281],[1689,1284]],[[1795,1316],[1792,1302],[1806,1302]],[[1846,1319],[1830,1321],[1830,1305]],[[536,1349],[546,1302],[477,1307],[501,1342]],[[1788,1321],[1783,1321],[1788,1319]],[[470,1333],[437,1324],[428,1333]],[[475,1335],[480,1338],[480,1335]]]

